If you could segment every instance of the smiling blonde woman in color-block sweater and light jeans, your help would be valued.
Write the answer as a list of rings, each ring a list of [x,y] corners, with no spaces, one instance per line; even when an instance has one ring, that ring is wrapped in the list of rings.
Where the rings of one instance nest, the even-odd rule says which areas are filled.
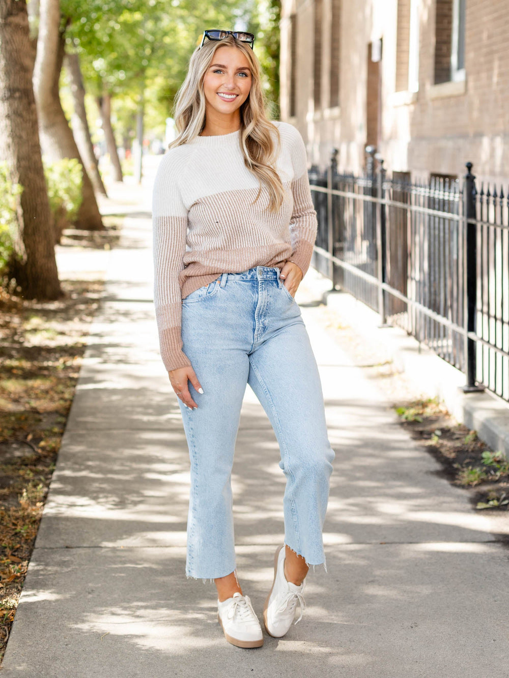
[[[284,544],[263,611],[271,636],[285,635],[298,604],[302,616],[309,565],[325,566],[334,458],[294,298],[317,226],[305,146],[295,127],[267,119],[254,40],[204,31],[153,188],[159,345],[191,459],[186,574],[214,580],[219,622],[239,647],[263,644],[235,571],[230,476],[246,384],[274,427],[286,475]]]

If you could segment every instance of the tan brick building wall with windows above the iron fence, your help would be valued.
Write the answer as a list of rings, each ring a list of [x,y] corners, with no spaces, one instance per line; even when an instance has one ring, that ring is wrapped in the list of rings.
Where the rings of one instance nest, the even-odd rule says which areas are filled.
[[[282,0],[281,117],[324,167],[509,178],[506,0]]]

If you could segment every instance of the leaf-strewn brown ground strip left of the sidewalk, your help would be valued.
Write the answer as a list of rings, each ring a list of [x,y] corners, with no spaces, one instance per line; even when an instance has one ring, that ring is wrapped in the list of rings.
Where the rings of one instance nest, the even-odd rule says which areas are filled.
[[[61,285],[53,302],[0,288],[0,661],[104,286]]]

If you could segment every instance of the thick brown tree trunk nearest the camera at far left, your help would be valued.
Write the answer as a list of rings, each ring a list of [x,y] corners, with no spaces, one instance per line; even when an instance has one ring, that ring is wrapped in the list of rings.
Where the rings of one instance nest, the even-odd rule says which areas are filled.
[[[10,167],[18,196],[16,254],[12,274],[26,298],[62,296],[53,245],[52,217],[37,131],[32,53],[25,0],[0,3],[0,159]]]

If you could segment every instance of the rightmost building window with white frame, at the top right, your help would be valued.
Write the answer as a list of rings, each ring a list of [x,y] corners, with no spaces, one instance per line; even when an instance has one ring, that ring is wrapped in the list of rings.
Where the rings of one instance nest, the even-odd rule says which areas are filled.
[[[466,0],[436,0],[435,84],[465,79]]]

